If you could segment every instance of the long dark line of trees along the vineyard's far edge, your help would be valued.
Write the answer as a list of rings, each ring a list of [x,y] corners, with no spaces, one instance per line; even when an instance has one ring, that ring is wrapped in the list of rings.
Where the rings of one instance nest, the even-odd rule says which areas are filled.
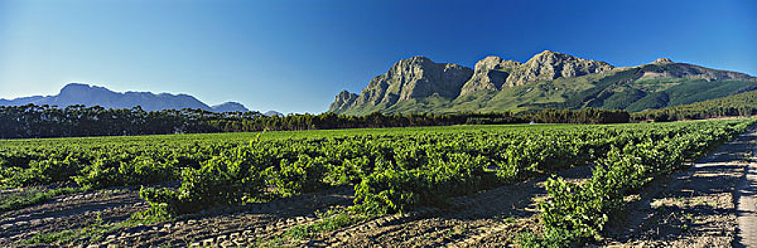
[[[145,111],[73,105],[0,106],[0,138],[53,138],[175,133],[291,131],[402,126],[450,126],[503,123],[614,123],[628,122],[622,110],[540,110],[523,113],[336,113],[264,116],[260,112],[214,113],[206,110]]]

